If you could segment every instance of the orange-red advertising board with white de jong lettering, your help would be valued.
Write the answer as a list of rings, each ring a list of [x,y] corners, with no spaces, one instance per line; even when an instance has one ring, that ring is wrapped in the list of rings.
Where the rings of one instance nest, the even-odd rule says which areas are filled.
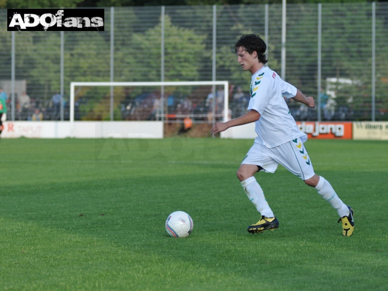
[[[307,133],[309,139],[352,139],[352,122],[337,121],[297,121],[299,129]]]

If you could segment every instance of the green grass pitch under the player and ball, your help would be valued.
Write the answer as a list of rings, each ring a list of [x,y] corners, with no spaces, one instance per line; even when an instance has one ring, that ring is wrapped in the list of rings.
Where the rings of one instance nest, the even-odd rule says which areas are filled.
[[[105,142],[1,139],[0,290],[388,290],[388,142],[306,143],[355,210],[351,237],[281,166],[256,175],[280,227],[249,234],[236,171],[252,141],[142,141],[125,162],[102,159]],[[164,229],[175,210],[188,238]]]

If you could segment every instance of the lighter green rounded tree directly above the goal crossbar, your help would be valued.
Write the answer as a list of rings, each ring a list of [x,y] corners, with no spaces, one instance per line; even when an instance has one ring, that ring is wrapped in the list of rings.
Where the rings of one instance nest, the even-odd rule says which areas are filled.
[[[206,35],[198,35],[192,29],[173,25],[167,15],[164,29],[164,80],[198,80],[201,67],[199,60],[207,54],[203,43]],[[161,80],[161,39],[161,23],[145,33],[132,34],[132,48],[128,48],[127,58],[123,60],[127,67],[123,74],[128,81]]]

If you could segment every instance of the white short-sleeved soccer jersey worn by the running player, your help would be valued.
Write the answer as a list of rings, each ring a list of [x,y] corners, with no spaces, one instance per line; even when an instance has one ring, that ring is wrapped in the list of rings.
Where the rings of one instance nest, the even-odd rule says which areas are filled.
[[[256,121],[258,137],[255,143],[271,148],[298,137],[302,142],[307,140],[306,133],[298,129],[283,98],[295,95],[296,88],[283,81],[269,67],[264,66],[252,75],[248,110],[254,109],[261,115]]]

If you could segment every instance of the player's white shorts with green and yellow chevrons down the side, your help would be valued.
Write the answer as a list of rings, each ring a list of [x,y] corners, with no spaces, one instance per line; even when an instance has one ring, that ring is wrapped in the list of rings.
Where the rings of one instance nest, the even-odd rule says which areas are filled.
[[[277,165],[281,164],[302,180],[315,175],[306,147],[300,138],[273,148],[254,143],[241,164],[257,165],[268,173],[274,173]]]

